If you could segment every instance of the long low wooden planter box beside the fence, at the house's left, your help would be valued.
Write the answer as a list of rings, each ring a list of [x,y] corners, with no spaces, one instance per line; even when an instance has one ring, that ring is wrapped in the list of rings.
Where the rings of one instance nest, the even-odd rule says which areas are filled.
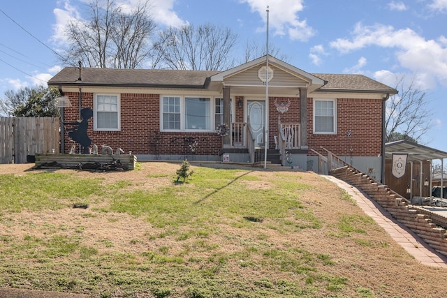
[[[112,163],[119,160],[126,170],[134,170],[137,157],[131,154],[36,154],[35,167],[40,168],[75,168],[85,163]]]

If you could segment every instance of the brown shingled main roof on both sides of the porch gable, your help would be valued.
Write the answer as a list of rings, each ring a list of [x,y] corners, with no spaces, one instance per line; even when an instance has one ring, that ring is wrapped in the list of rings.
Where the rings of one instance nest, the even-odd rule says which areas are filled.
[[[206,87],[212,75],[220,71],[207,70],[159,70],[67,67],[48,81],[49,86],[109,86],[109,87],[158,87],[197,88]],[[78,78],[82,77],[82,80]],[[397,91],[365,75],[339,75],[314,73],[327,82],[316,91],[374,91],[397,94]]]

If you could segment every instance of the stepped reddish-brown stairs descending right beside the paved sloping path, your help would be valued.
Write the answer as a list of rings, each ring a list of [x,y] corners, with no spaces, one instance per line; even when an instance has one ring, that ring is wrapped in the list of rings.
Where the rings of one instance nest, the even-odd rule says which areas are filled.
[[[393,192],[388,186],[380,184],[367,174],[353,167],[344,166],[329,173],[337,179],[346,181],[386,209],[393,218],[418,234],[428,245],[442,255],[447,255],[447,218],[430,210],[410,204],[408,200]]]

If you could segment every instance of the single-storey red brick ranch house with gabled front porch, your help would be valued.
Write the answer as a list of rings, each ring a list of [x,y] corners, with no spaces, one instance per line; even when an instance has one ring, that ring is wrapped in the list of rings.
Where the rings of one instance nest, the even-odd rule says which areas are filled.
[[[376,177],[385,101],[397,94],[364,75],[306,73],[271,56],[226,71],[67,67],[48,85],[70,100],[64,122],[93,110],[87,134],[98,151],[106,144],[140,161],[254,162],[267,147],[283,165],[316,170],[312,149],[324,147]],[[228,135],[217,133],[219,124]],[[62,144],[67,153],[67,133]]]

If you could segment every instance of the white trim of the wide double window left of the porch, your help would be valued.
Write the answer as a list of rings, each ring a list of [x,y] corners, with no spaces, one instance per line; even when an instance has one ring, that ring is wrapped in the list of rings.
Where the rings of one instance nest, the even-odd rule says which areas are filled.
[[[180,129],[163,129],[163,100],[167,97],[180,98]],[[186,129],[186,98],[207,98],[210,100],[210,129]],[[182,133],[215,133],[216,126],[219,125],[216,122],[216,98],[222,98],[221,96],[200,96],[196,94],[191,95],[173,95],[163,94],[160,96],[160,131],[165,132],[182,132]],[[234,109],[233,106],[230,107]],[[234,115],[234,110],[232,111]],[[234,117],[234,116],[233,116]]]

